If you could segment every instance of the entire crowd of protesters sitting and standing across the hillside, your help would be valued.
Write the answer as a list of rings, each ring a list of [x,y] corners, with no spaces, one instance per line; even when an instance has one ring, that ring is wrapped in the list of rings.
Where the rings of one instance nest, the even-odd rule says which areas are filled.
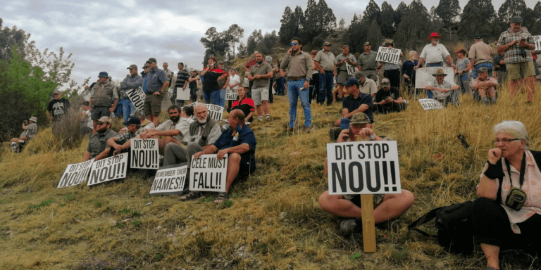
[[[273,63],[270,56],[255,52],[254,58],[244,66],[244,77],[240,79],[235,68],[225,69],[222,61],[211,57],[201,72],[184,69],[178,63],[178,72],[157,68],[156,58],[149,58],[143,65],[141,75],[137,65],[128,67],[129,74],[116,85],[111,82],[107,72],[99,72],[98,80],[86,89],[89,91],[87,115],[89,129],[92,129],[87,151],[83,160],[101,160],[118,153],[130,153],[130,139],[158,139],[163,154],[163,166],[180,165],[201,155],[216,154],[221,160],[228,154],[225,192],[214,196],[215,203],[228,200],[232,184],[247,179],[256,169],[256,136],[250,129],[251,122],[271,121],[270,103],[275,95],[285,95],[290,104],[290,120],[287,131],[297,127],[297,103],[300,99],[304,111],[304,129],[313,130],[311,106],[342,103],[342,111],[337,112],[337,120],[330,130],[331,139],[337,142],[357,141],[357,138],[371,141],[387,140],[377,136],[373,129],[375,113],[394,113],[406,110],[407,101],[402,97],[402,89],[417,94],[415,89],[416,70],[421,67],[436,67],[433,80],[424,88],[428,98],[447,104],[458,104],[459,94],[472,94],[484,104],[496,103],[497,91],[507,82],[511,97],[524,86],[528,93],[528,103],[533,102],[535,75],[539,74],[533,56],[537,55],[531,35],[521,27],[522,18],[511,18],[509,30],[501,34],[494,50],[483,41],[482,35],[475,36],[475,43],[468,52],[455,51],[456,65],[445,46],[439,43],[442,36],[430,34],[421,54],[409,52],[409,60],[402,68],[396,63],[376,60],[377,53],[372,44],[365,42],[364,52],[356,58],[349,53],[349,46],[342,46],[342,53],[334,56],[330,52],[332,44],[323,43],[321,51],[306,53],[302,50],[302,40],[294,37],[285,56]],[[393,49],[392,40],[383,44]],[[445,77],[444,63],[454,70],[456,83]],[[380,70],[383,69],[383,77]],[[402,83],[402,78],[404,83]],[[336,87],[335,87],[336,86]],[[127,95],[130,89],[142,88],[144,109],[135,108]],[[178,98],[181,91],[189,91],[188,98]],[[199,91],[201,89],[201,91]],[[413,89],[413,92],[412,90]],[[237,100],[225,105],[225,92],[236,91]],[[170,98],[167,112],[169,119],[160,123],[158,116],[162,111],[163,99]],[[204,103],[182,107],[185,101],[191,103],[204,99],[204,103],[220,105],[228,110],[227,127],[210,117]],[[119,110],[121,109],[121,110]],[[46,115],[51,121],[60,121],[70,110],[70,102],[54,91],[54,99],[47,107]],[[124,129],[114,131],[111,117],[123,118]],[[14,152],[20,152],[27,141],[37,133],[37,119],[30,117],[23,124],[24,132],[12,139]],[[535,226],[541,222],[540,197],[536,186],[541,186],[541,172],[535,165],[538,153],[528,150],[528,134],[520,122],[502,122],[494,129],[496,148],[489,151],[487,165],[481,174],[478,186],[480,198],[475,201],[473,221],[475,236],[487,257],[487,269],[499,269],[499,248],[520,243],[531,245],[537,236]],[[327,173],[325,162],[325,174]],[[499,182],[495,179],[500,179]],[[502,181],[503,179],[503,181]],[[524,181],[526,179],[526,181]],[[528,199],[523,207],[514,209],[506,198],[514,187],[526,192]],[[204,195],[199,191],[188,191],[180,200],[193,200]],[[402,190],[398,194],[374,196],[375,223],[392,221],[413,205],[414,196]],[[325,191],[319,204],[323,210],[340,217],[346,217],[340,224],[344,235],[359,231],[361,204],[358,194],[330,195]],[[490,211],[488,211],[490,210]],[[497,219],[493,224],[492,218]],[[519,234],[521,231],[526,232]],[[537,238],[535,238],[537,240]],[[490,268],[492,267],[492,268]]]

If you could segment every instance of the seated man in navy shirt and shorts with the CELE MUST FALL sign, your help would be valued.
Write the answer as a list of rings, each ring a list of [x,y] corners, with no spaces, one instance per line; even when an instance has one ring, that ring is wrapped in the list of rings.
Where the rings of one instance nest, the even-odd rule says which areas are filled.
[[[228,200],[229,187],[235,179],[243,179],[256,170],[256,136],[251,129],[244,125],[242,110],[232,110],[228,116],[229,129],[222,132],[213,144],[194,154],[200,155],[216,153],[218,160],[228,154],[228,173],[225,180],[225,192],[216,195],[214,203],[223,203]]]

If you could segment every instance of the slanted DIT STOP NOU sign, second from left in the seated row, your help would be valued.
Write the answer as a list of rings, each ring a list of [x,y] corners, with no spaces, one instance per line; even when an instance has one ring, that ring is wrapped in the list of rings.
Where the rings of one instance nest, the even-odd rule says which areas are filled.
[[[127,171],[128,153],[121,153],[116,155],[116,157],[94,161],[87,186],[123,179],[126,177]]]

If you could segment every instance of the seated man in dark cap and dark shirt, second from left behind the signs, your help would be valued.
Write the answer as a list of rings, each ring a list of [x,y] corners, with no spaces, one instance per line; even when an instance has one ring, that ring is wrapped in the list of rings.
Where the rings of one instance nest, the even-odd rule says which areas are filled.
[[[139,120],[139,117],[131,116],[130,119],[123,124],[128,128],[128,131],[108,139],[107,145],[111,147],[105,148],[103,152],[96,156],[94,161],[108,158],[118,153],[127,152],[128,148],[132,146],[130,139],[139,136],[139,134],[142,134],[142,132],[146,130],[141,128],[141,120]],[[111,148],[113,150],[111,150]]]

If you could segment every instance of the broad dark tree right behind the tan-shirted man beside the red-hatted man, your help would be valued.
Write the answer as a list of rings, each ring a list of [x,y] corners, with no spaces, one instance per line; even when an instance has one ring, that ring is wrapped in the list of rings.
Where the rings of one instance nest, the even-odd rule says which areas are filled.
[[[491,0],[470,0],[462,11],[458,36],[471,40],[480,33],[485,39],[497,38],[500,32],[495,27],[496,18]]]

